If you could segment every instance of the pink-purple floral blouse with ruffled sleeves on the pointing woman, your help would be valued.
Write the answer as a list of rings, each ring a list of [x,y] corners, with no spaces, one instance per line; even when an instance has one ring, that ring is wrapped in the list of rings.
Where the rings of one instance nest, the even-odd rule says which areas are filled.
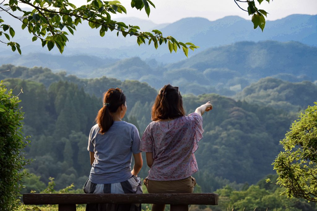
[[[197,172],[194,152],[203,133],[203,117],[197,113],[171,121],[151,122],[140,144],[141,151],[153,153],[148,179],[179,180]]]

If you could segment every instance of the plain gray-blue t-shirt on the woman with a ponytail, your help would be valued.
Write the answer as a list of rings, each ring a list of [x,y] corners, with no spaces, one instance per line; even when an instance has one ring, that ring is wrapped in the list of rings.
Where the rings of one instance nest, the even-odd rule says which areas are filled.
[[[96,124],[89,134],[87,149],[95,156],[89,180],[96,184],[126,181],[132,177],[132,153],[141,152],[138,129],[125,121],[114,121],[105,134],[99,130]]]

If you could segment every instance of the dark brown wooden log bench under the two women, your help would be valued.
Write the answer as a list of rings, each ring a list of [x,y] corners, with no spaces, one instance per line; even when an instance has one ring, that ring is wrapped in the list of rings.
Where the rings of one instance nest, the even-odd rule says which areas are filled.
[[[58,204],[59,211],[75,211],[76,204],[170,204],[171,211],[184,211],[184,205],[217,205],[215,193],[162,193],[162,194],[23,194],[27,205]],[[185,209],[184,209],[185,207]],[[188,210],[188,209],[187,209]]]

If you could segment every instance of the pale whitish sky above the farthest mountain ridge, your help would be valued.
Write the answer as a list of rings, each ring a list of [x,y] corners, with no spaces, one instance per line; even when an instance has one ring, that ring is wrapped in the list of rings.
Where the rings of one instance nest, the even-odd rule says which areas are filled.
[[[69,2],[76,6],[87,4],[87,0],[69,0]],[[156,9],[151,6],[149,18],[144,9],[142,11],[132,9],[131,0],[120,2],[127,9],[127,14],[118,15],[118,17],[137,17],[155,23],[171,23],[185,17],[204,17],[214,21],[232,15],[251,19],[251,16],[239,9],[233,0],[152,0]],[[246,3],[239,4],[247,9]],[[317,14],[317,0],[271,0],[269,4],[263,1],[261,5],[256,1],[256,6],[269,13],[267,20],[281,19],[292,14]]]

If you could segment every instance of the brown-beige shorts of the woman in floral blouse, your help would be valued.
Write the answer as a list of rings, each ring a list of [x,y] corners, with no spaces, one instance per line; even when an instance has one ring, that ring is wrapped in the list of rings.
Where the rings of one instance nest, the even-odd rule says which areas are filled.
[[[180,180],[157,181],[146,177],[143,183],[149,193],[192,193],[196,179],[190,176]]]

